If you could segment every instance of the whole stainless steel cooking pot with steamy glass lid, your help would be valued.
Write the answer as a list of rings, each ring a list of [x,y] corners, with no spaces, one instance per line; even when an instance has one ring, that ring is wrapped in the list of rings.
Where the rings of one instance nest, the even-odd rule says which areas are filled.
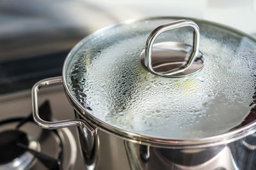
[[[146,41],[147,40],[147,41]],[[195,18],[110,25],[32,89],[40,127],[77,126],[88,169],[255,169],[256,40]],[[46,122],[38,90],[63,83],[76,119]]]

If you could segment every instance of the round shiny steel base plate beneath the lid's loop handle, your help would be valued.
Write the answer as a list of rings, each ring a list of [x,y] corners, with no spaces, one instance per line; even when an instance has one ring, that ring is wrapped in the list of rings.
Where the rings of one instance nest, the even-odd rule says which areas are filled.
[[[153,45],[152,49],[152,68],[161,74],[170,73],[170,71],[184,66],[193,50],[192,46],[178,42],[157,43]],[[145,50],[141,53],[140,61],[142,66],[145,66]],[[172,74],[172,77],[182,77],[196,73],[204,67],[204,61],[204,55],[199,51],[194,62],[185,71]],[[145,68],[148,70],[148,67]]]

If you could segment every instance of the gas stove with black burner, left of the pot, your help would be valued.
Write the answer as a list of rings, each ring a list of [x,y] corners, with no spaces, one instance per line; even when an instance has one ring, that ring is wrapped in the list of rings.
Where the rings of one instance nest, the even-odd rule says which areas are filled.
[[[44,120],[72,118],[61,86],[45,89],[40,102]],[[33,122],[30,90],[0,98],[0,169],[85,169],[76,128],[45,130]]]

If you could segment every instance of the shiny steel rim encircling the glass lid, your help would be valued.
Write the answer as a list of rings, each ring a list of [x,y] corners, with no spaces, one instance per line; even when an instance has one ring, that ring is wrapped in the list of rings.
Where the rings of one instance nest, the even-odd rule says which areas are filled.
[[[140,143],[150,146],[161,146],[165,148],[201,148],[201,147],[208,147],[208,146],[216,146],[216,145],[224,145],[226,143],[230,143],[232,141],[236,141],[237,139],[244,138],[245,136],[248,136],[250,134],[253,134],[256,132],[256,120],[251,122],[250,124],[247,124],[243,127],[239,127],[235,130],[225,132],[223,134],[219,134],[216,136],[210,136],[206,138],[174,138],[174,139],[168,139],[168,138],[160,138],[156,136],[145,136],[141,134],[137,134],[131,131],[126,131],[124,129],[120,129],[118,127],[114,127],[113,125],[110,125],[106,122],[103,122],[99,118],[95,117],[93,114],[90,113],[90,111],[86,110],[80,103],[77,101],[77,99],[72,96],[70,90],[68,89],[67,81],[66,81],[66,70],[67,70],[67,63],[69,62],[70,58],[74,56],[74,53],[77,52],[77,50],[83,45],[84,39],[88,39],[95,34],[98,34],[99,32],[105,31],[106,29],[111,29],[113,27],[116,27],[118,25],[125,25],[125,24],[132,24],[133,22],[136,22],[138,20],[157,20],[157,19],[189,19],[193,20],[195,22],[204,22],[206,24],[214,25],[221,27],[223,29],[226,29],[228,31],[235,32],[236,34],[246,36],[247,38],[252,39],[253,41],[256,41],[255,38],[252,36],[246,34],[245,32],[239,31],[237,29],[234,29],[232,27],[229,27],[227,25],[218,24],[216,22],[211,22],[207,20],[202,20],[198,18],[190,18],[190,17],[145,17],[145,18],[139,18],[139,19],[129,19],[125,20],[123,22],[118,22],[116,24],[108,25],[106,27],[103,27],[102,29],[99,29],[92,34],[86,36],[83,38],[79,43],[77,43],[72,50],[68,53],[65,62],[63,64],[62,69],[62,79],[63,79],[63,86],[65,88],[65,93],[68,97],[68,100],[70,101],[70,104],[74,106],[75,110],[83,117],[87,122],[92,124],[94,127],[98,127],[100,130],[108,132],[109,134],[113,134],[114,136],[117,136],[119,138],[132,141],[134,143]]]

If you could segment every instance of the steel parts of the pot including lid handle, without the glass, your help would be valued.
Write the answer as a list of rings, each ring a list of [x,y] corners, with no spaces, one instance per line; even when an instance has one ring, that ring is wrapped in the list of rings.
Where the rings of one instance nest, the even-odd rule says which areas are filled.
[[[147,20],[170,20],[174,21],[157,27],[148,37],[145,51],[141,52],[138,59],[147,71],[157,76],[184,77],[197,74],[207,61],[207,56],[199,51],[199,29],[192,22],[214,25],[223,30],[231,31],[235,36],[243,36],[256,44],[256,40],[243,32],[230,27],[186,18],[191,20],[179,20],[180,18],[148,18]],[[111,25],[95,32],[89,38],[83,39],[75,46],[63,66],[63,77],[49,78],[36,83],[32,89],[33,117],[40,127],[45,129],[58,129],[63,127],[77,126],[83,150],[84,162],[88,169],[255,169],[255,107],[253,103],[250,113],[247,113],[241,125],[236,125],[220,134],[195,138],[167,138],[166,136],[147,135],[131,130],[122,129],[109,124],[92,114],[92,108],[83,106],[82,102],[74,97],[67,82],[67,69],[72,56],[84,45],[86,39],[108,32],[118,25],[132,25],[135,21],[122,22]],[[162,32],[180,27],[193,28],[193,46],[185,43],[157,43],[154,40]],[[129,30],[128,30],[129,31]],[[92,40],[93,41],[93,40]],[[253,44],[253,46],[255,46]],[[164,46],[172,46],[167,51]],[[248,47],[250,48],[250,47]],[[158,51],[157,51],[158,49]],[[160,50],[159,50],[160,49]],[[177,50],[178,49],[178,50]],[[250,50],[250,49],[249,49]],[[166,53],[172,51],[172,56],[167,59]],[[188,53],[191,54],[188,55]],[[181,54],[180,54],[181,53]],[[184,54],[185,53],[185,54]],[[256,55],[255,50],[253,52]],[[170,53],[169,53],[170,54]],[[157,55],[157,56],[156,56]],[[152,59],[151,59],[152,58]],[[163,62],[164,61],[164,62]],[[90,61],[91,62],[91,61]],[[149,73],[149,74],[151,74]],[[165,78],[168,79],[168,78]],[[115,80],[113,80],[115,81]],[[76,81],[74,81],[76,86]],[[73,83],[74,83],[73,82]],[[46,122],[38,115],[38,90],[41,87],[63,83],[70,104],[74,107],[76,119],[57,122]],[[80,87],[77,87],[80,88]],[[76,89],[76,87],[74,88]],[[255,94],[255,93],[254,93]],[[81,94],[80,94],[81,95]],[[83,96],[80,96],[83,97]],[[255,99],[255,96],[254,98]],[[127,101],[126,101],[127,102]]]

